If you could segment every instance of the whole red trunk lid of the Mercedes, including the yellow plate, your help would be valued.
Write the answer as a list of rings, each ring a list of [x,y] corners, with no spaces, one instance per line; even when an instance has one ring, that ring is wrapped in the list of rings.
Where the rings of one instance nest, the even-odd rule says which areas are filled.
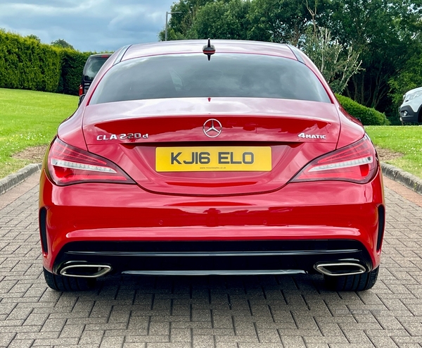
[[[89,151],[162,194],[257,194],[285,185],[338,142],[333,104],[253,98],[87,106]]]

